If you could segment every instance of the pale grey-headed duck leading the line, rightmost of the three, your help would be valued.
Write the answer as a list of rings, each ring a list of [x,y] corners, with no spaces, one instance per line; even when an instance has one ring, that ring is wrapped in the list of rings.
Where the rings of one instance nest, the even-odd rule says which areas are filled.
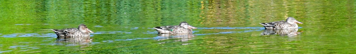
[[[303,24],[293,17],[288,17],[285,21],[276,21],[269,23],[260,23],[265,29],[295,29],[298,28],[298,24]]]

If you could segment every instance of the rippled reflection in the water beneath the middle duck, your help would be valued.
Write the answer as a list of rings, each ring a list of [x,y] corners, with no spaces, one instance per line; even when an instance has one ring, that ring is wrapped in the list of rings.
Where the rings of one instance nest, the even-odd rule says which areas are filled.
[[[188,40],[193,40],[194,35],[191,33],[188,34],[158,34],[159,39],[157,41],[161,40],[169,40],[169,39],[179,39],[179,40],[174,40],[174,42],[187,42]],[[168,41],[167,41],[168,42]],[[167,42],[161,42],[162,43],[167,43]],[[190,43],[183,43],[182,45],[187,45]]]

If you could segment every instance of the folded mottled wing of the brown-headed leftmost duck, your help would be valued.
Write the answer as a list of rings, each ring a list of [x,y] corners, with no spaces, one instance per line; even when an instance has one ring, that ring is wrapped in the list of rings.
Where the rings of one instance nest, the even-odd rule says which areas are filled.
[[[78,31],[77,28],[68,28],[68,29],[52,29],[57,34],[73,34],[75,31]]]

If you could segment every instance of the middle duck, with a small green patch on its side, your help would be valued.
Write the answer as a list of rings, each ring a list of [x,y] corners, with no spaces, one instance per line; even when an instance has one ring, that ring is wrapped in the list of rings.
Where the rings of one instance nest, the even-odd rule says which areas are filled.
[[[156,29],[158,34],[186,34],[192,33],[192,29],[197,29],[197,27],[189,25],[187,22],[180,22],[176,26],[157,26],[153,29]]]

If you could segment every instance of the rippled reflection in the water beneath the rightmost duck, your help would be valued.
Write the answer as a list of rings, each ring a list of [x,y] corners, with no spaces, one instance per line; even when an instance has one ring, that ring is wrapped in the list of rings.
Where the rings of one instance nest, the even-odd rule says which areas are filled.
[[[265,29],[261,35],[282,35],[282,36],[297,36],[300,32],[297,29]]]

